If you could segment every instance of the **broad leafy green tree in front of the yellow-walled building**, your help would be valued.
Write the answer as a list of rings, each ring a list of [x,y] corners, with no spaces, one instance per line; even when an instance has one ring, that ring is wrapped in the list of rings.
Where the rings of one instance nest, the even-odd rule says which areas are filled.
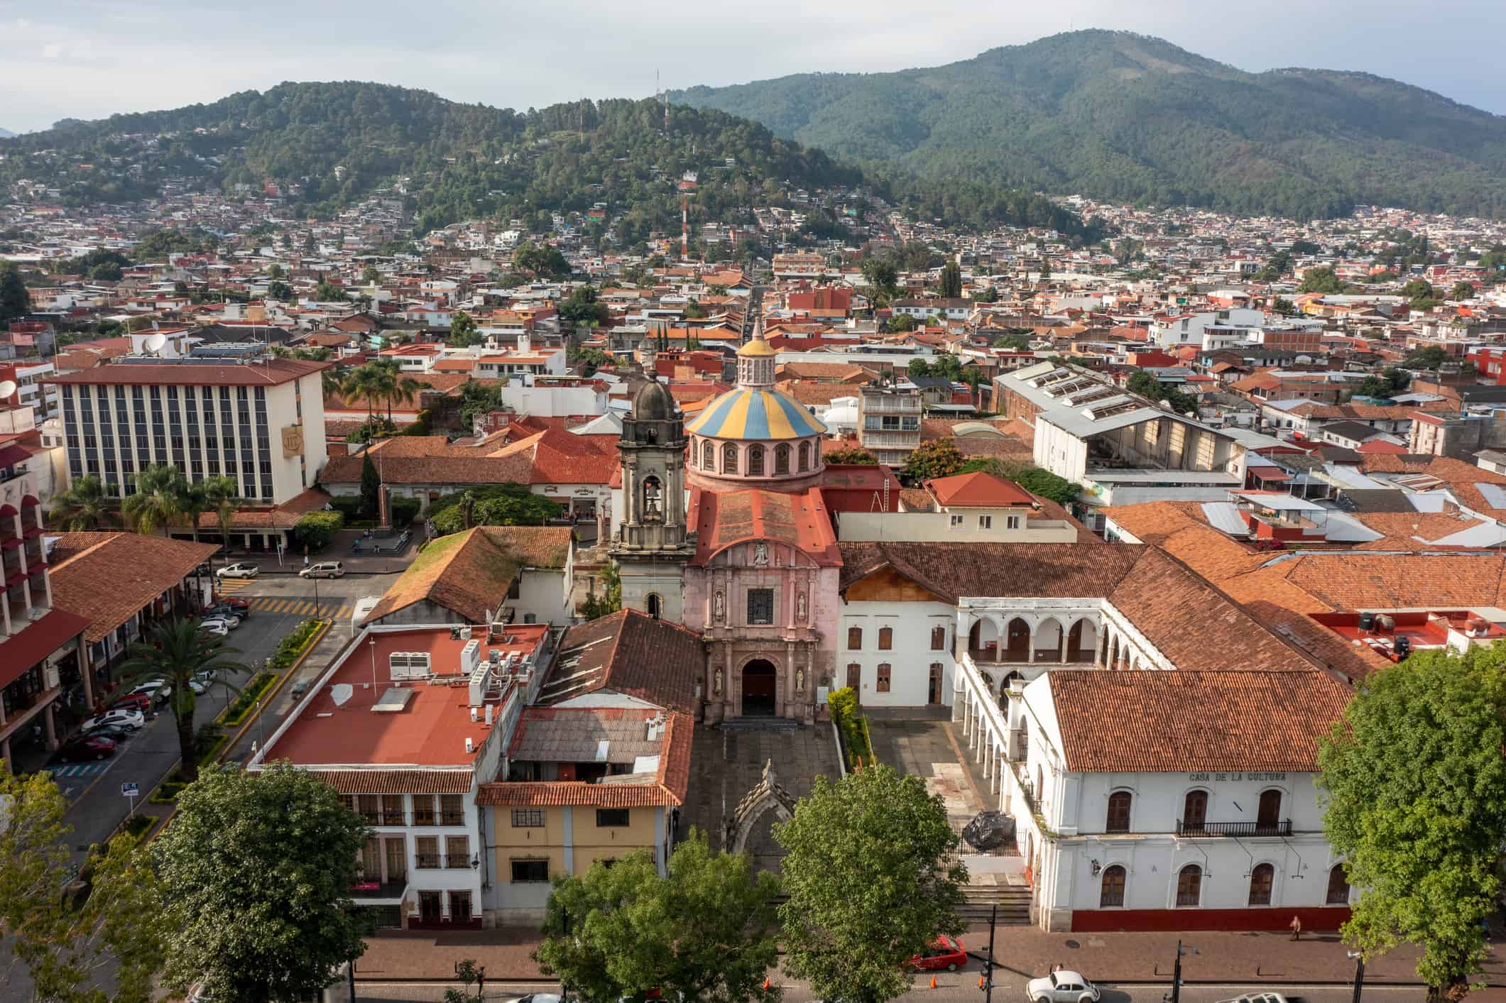
[[[584,1003],[658,989],[664,998],[770,1000],[777,958],[779,880],[747,854],[712,852],[691,830],[660,876],[646,849],[556,875],[535,956]]]

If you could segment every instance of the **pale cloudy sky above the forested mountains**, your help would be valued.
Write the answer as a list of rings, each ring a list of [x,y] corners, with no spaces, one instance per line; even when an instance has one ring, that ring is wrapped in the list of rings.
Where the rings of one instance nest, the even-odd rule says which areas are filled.
[[[1506,113],[1506,74],[1468,39],[1506,3],[1267,0],[0,0],[0,128],[35,131],[217,101],[285,80],[375,80],[544,107],[794,72],[968,59],[1072,29],[1155,35],[1241,69],[1360,69]],[[1461,35],[1461,29],[1464,33]],[[1473,51],[1471,51],[1473,48]]]

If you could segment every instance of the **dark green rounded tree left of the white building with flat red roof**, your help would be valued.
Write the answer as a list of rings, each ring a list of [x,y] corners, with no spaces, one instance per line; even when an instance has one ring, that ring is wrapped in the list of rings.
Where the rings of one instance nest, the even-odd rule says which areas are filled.
[[[152,843],[169,947],[163,985],[214,1000],[318,997],[358,958],[349,901],[370,830],[319,777],[277,762],[211,770],[178,795]]]

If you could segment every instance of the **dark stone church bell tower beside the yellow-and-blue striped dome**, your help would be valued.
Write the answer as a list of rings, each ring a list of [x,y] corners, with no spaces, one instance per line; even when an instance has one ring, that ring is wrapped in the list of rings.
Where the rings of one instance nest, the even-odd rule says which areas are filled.
[[[682,623],[685,563],[696,538],[685,521],[685,423],[669,389],[639,387],[622,419],[622,524],[611,557],[622,578],[622,607]]]

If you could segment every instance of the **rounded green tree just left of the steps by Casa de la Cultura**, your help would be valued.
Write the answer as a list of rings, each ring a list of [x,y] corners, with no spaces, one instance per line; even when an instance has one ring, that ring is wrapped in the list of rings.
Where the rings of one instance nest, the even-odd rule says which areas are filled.
[[[824,1000],[883,1003],[910,991],[905,962],[958,934],[967,867],[941,798],[884,765],[833,783],[818,776],[788,822],[789,901],[779,907],[785,971]]]

